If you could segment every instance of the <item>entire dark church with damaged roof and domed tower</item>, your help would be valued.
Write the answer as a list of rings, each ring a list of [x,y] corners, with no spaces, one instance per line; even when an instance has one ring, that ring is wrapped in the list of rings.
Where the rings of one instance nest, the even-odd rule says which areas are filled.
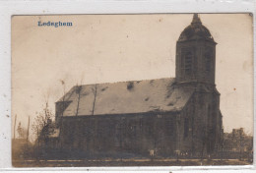
[[[72,87],[55,103],[61,148],[214,155],[223,134],[216,45],[194,14],[176,42],[175,78]]]

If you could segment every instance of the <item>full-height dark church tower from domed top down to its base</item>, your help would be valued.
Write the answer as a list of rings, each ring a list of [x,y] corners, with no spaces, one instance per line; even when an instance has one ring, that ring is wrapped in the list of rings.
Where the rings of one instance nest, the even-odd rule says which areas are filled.
[[[190,150],[202,155],[216,152],[222,138],[220,92],[215,85],[216,45],[198,14],[176,42],[176,87],[194,90],[190,111],[184,114],[192,129],[187,143]]]

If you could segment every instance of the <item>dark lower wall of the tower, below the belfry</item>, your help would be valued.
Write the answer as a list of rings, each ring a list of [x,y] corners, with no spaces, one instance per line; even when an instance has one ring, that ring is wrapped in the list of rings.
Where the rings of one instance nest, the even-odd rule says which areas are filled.
[[[194,136],[196,154],[213,154],[220,144],[220,95],[197,91],[194,94]]]

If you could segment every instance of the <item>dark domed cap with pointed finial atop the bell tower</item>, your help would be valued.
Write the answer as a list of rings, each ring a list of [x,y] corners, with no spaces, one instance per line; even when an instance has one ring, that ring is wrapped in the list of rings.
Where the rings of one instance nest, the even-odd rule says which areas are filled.
[[[194,39],[206,39],[214,41],[209,29],[202,25],[198,14],[194,14],[191,24],[181,32],[178,41]]]

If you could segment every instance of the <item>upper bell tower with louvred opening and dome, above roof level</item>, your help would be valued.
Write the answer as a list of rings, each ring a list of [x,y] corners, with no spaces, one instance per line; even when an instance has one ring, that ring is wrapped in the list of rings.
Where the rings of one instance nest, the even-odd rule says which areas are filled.
[[[176,43],[177,84],[215,86],[216,42],[198,14]]]

